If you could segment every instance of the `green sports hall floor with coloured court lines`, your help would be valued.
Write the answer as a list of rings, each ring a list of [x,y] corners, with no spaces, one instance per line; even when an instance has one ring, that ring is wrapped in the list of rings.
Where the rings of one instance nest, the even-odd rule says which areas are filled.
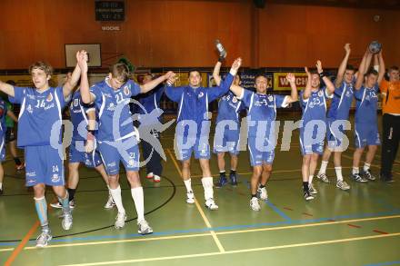
[[[297,116],[295,116],[297,118]],[[279,115],[278,120],[294,119]],[[282,128],[282,125],[281,125]],[[134,204],[122,173],[123,199],[128,221],[115,230],[116,210],[106,211],[105,184],[94,170],[82,167],[75,194],[74,226],[61,228],[59,210],[49,208],[54,239],[35,249],[39,233],[32,192],[24,186],[24,172],[5,165],[5,194],[0,196],[0,264],[13,265],[395,265],[400,264],[400,156],[395,182],[349,181],[353,149],[344,153],[349,192],[335,188],[333,163],[329,184],[315,180],[317,198],[305,202],[301,190],[298,133],[289,152],[276,152],[267,189],[269,200],[261,212],[249,208],[248,154],[239,155],[237,187],[215,189],[219,210],[204,207],[200,167],[193,163],[192,181],[197,201],[185,203],[185,186],[173,151],[174,128],[163,135],[167,162],[162,182],[145,180],[146,220],[155,233],[137,234]],[[350,133],[349,135],[351,135]],[[280,135],[281,136],[281,135]],[[353,147],[353,138],[350,147]],[[278,146],[279,148],[279,146]],[[380,152],[375,156],[377,174]],[[216,157],[211,167],[217,177]],[[228,164],[227,164],[228,168]],[[47,192],[47,201],[55,196]]]

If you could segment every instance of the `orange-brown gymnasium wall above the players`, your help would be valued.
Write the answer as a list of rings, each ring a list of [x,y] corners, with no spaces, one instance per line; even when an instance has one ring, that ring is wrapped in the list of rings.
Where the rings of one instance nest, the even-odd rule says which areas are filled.
[[[139,67],[207,67],[215,63],[216,38],[228,61],[240,55],[249,67],[299,67],[317,58],[336,67],[345,42],[352,43],[357,63],[373,39],[384,44],[386,64],[400,64],[399,11],[257,9],[250,0],[126,0],[125,6],[124,23],[100,23],[94,0],[1,0],[0,69],[26,69],[39,59],[65,68],[65,44],[85,43],[102,44],[103,67],[121,54]],[[120,31],[103,31],[102,25],[119,25]]]

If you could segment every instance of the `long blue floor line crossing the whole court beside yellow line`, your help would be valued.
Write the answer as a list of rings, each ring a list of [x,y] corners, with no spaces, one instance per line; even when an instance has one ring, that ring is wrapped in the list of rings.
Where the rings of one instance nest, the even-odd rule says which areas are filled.
[[[167,235],[175,235],[180,233],[195,233],[195,232],[222,232],[229,230],[239,230],[239,229],[255,229],[265,226],[280,226],[280,225],[295,225],[295,224],[305,224],[312,222],[330,222],[332,220],[345,220],[345,219],[359,219],[359,218],[368,218],[368,217],[379,217],[379,216],[389,216],[389,215],[398,215],[400,214],[400,209],[391,211],[391,212],[375,212],[375,213],[356,213],[349,215],[340,215],[335,217],[328,218],[318,218],[318,219],[305,219],[305,220],[290,220],[290,221],[281,221],[281,222],[263,222],[263,223],[255,223],[255,224],[242,224],[242,225],[232,225],[232,226],[221,226],[221,227],[212,227],[212,228],[197,228],[197,229],[189,229],[189,230],[176,230],[176,231],[165,231],[165,232],[154,232],[151,235],[143,236],[138,233],[133,234],[121,234],[121,235],[100,235],[100,236],[88,236],[88,237],[74,237],[67,239],[53,239],[52,242],[73,242],[73,241],[98,241],[105,239],[115,239],[115,240],[124,240],[130,238],[137,237],[151,237],[151,236],[167,236]],[[0,246],[15,246],[19,242],[0,242]],[[30,245],[35,245],[35,241],[30,241]]]

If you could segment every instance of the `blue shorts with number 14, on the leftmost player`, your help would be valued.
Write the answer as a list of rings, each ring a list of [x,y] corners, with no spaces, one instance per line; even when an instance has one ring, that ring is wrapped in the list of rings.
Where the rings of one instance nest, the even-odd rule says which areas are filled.
[[[50,145],[25,146],[26,186],[45,183],[51,186],[65,185],[63,158]]]

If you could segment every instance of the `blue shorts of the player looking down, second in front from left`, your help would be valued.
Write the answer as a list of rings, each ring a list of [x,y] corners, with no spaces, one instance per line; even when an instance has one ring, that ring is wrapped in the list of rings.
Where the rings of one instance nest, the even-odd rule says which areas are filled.
[[[105,172],[108,175],[119,173],[119,163],[123,163],[127,171],[139,171],[139,147],[135,137],[131,137],[124,142],[107,143],[98,142],[98,151],[100,152]]]

